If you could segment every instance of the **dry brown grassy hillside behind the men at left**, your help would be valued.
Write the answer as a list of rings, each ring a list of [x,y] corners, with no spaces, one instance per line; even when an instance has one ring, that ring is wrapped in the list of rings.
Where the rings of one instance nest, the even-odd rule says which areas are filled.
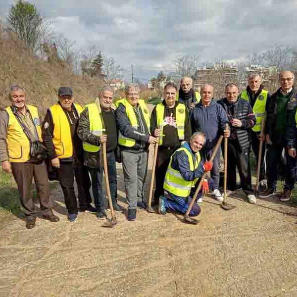
[[[37,105],[41,115],[57,100],[60,86],[72,87],[75,101],[81,104],[95,99],[103,86],[99,79],[83,80],[59,62],[31,55],[12,34],[0,27],[0,108],[9,105],[7,94],[12,84],[25,87],[27,102]]]

